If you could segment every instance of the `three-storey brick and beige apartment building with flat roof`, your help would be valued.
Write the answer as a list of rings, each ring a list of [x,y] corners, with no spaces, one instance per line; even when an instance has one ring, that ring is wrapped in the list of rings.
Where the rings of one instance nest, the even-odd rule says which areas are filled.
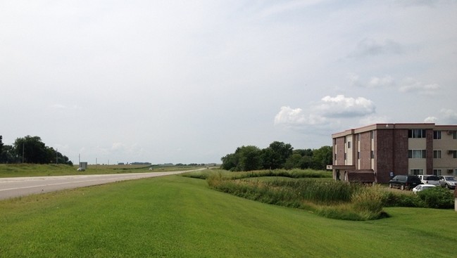
[[[332,140],[337,180],[387,183],[396,174],[457,176],[457,125],[372,124],[332,134]]]

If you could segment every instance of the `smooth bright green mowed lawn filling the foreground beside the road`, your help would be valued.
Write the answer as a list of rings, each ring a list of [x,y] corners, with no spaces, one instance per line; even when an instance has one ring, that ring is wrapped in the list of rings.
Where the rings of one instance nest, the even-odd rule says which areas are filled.
[[[0,202],[0,257],[457,257],[457,212],[325,219],[183,176]]]

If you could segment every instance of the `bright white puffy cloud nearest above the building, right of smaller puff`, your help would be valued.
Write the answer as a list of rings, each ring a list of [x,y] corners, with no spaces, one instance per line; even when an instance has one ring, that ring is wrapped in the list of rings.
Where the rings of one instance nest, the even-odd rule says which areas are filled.
[[[375,103],[367,98],[337,95],[322,98],[318,110],[326,117],[360,117],[375,113],[376,107]]]

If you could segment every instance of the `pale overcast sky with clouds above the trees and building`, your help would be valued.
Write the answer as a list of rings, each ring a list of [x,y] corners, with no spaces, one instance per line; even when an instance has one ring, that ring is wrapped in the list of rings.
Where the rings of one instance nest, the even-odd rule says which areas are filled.
[[[220,163],[457,124],[457,0],[0,1],[0,135],[74,163]]]

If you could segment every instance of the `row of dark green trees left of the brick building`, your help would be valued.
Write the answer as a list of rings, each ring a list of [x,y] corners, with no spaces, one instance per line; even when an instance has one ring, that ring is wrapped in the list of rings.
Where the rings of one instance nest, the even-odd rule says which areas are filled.
[[[289,143],[274,141],[268,148],[238,147],[234,153],[221,157],[222,169],[251,171],[258,169],[326,169],[332,164],[332,147],[294,150]]]

